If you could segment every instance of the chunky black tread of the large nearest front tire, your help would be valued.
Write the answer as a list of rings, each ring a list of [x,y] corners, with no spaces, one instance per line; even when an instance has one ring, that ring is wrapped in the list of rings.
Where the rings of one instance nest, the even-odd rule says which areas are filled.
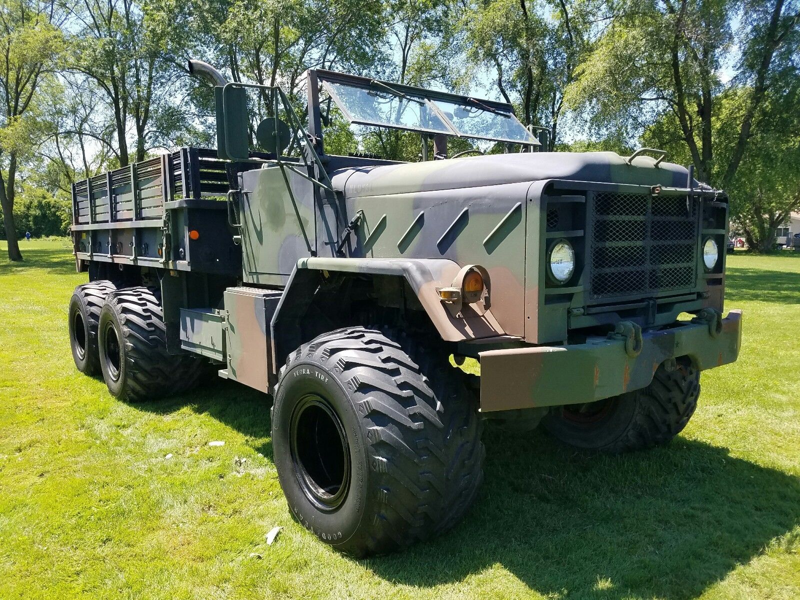
[[[342,328],[292,352],[279,379],[303,359],[346,385],[378,472],[380,509],[342,550],[384,554],[454,526],[477,494],[485,450],[472,395],[446,356],[389,328]]]

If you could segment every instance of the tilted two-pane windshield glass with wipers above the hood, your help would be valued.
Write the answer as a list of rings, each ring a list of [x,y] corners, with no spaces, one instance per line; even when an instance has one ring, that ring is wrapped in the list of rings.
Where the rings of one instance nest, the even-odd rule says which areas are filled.
[[[350,123],[538,145],[510,105],[330,73],[322,87]]]

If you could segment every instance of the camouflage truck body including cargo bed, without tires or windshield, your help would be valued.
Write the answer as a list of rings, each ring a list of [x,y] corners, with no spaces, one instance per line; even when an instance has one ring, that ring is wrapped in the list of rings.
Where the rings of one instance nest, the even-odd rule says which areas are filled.
[[[294,349],[278,348],[284,344],[278,338],[309,318],[299,307],[315,293],[320,274],[330,272],[405,280],[442,340],[481,360],[485,410],[613,396],[647,385],[658,364],[680,356],[701,369],[735,360],[738,313],[722,320],[719,332],[703,323],[675,326],[683,312],[719,320],[725,289],[726,196],[686,168],[613,152],[421,163],[325,155],[312,113],[301,149],[306,159],[248,153],[235,139],[242,115],[225,110],[219,133],[227,141],[232,136],[229,150],[238,148],[226,156],[242,163],[189,148],[130,173],[79,182],[73,192],[78,267],[94,279],[109,276],[111,267],[168,271],[158,279],[170,352],[218,360],[222,376],[262,391],[270,391]],[[236,182],[227,202],[208,199],[225,194],[226,179]],[[642,227],[651,238],[642,244],[654,243],[651,222],[666,223],[667,237],[659,241],[672,244],[670,223],[696,217],[688,223],[691,280],[674,283],[670,269],[686,266],[676,259],[663,268],[648,264],[646,292],[621,288],[603,296],[591,288],[590,274],[603,268],[590,266],[600,240],[592,214],[603,195],[647,199]],[[681,214],[657,219],[650,210],[657,199],[675,199]],[[706,238],[722,248],[713,268],[702,263]],[[548,274],[548,252],[558,240],[576,253],[574,276],[564,284]],[[685,237],[677,240],[686,245]],[[460,288],[468,265],[486,274],[486,293],[480,303],[459,301],[454,309],[439,291]],[[672,283],[660,286],[662,280]],[[644,332],[635,356],[621,351],[621,340],[596,337],[623,322]],[[567,371],[574,377],[560,381]]]

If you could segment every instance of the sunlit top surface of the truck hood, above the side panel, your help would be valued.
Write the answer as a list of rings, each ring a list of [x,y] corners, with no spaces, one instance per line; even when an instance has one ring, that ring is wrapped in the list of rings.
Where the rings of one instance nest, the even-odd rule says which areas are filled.
[[[655,166],[650,156],[638,156],[633,164],[615,152],[534,152],[472,156],[354,167],[334,171],[334,189],[346,198],[407,194],[520,183],[542,179],[572,179],[601,183],[633,183],[686,187],[688,171],[673,163]],[[694,185],[698,182],[694,181]]]

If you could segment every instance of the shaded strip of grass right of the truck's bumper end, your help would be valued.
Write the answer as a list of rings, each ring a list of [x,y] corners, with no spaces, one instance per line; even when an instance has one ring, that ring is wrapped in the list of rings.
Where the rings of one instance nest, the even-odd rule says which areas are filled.
[[[725,276],[726,302],[757,300],[800,304],[800,273],[729,267]],[[729,304],[730,308],[736,308]]]

